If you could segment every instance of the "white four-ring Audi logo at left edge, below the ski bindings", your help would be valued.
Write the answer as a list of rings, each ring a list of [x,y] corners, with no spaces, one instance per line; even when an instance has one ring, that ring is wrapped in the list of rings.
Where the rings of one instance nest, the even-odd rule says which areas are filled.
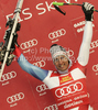
[[[8,73],[8,74],[3,74],[0,81],[7,81],[9,79],[12,79],[17,76],[17,73],[15,72],[11,72],[11,73]]]

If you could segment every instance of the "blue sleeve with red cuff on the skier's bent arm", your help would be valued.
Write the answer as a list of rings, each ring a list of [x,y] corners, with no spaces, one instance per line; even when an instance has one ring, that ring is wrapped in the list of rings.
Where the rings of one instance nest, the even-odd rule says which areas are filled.
[[[37,66],[34,66],[33,64],[30,64],[23,54],[21,54],[20,50],[18,47],[15,47],[14,54],[18,57],[18,63],[21,66],[21,68],[29,73],[30,75],[32,75],[33,77],[40,79],[40,80],[44,80],[44,78],[47,76],[48,70],[42,69]]]

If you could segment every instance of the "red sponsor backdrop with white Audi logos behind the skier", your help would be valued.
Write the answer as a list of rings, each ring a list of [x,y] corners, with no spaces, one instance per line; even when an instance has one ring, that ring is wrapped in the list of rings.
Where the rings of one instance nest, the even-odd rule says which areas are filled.
[[[83,3],[84,0],[59,0],[65,3]],[[75,62],[83,40],[85,15],[79,6],[64,6],[66,15],[57,12],[52,0],[24,0],[19,18],[21,30],[18,43],[26,59],[43,69],[56,70],[50,47],[59,44],[66,48],[69,58]],[[89,3],[98,10],[97,1]],[[0,42],[3,41],[8,18],[13,16],[17,0],[0,0]],[[98,110],[98,12],[94,12],[94,33],[90,56],[87,66],[87,89],[90,105]],[[6,66],[0,80],[1,110],[58,110],[48,87],[23,72],[17,58]]]

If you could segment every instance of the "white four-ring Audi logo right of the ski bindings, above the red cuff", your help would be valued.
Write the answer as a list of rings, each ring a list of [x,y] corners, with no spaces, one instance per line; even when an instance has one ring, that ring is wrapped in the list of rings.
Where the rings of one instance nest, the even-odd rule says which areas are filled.
[[[33,38],[33,40],[30,40],[30,41],[28,41],[28,42],[25,42],[25,43],[22,43],[22,44],[20,45],[20,47],[21,47],[22,50],[26,50],[26,48],[32,47],[32,46],[35,46],[35,45],[37,45],[37,40]]]

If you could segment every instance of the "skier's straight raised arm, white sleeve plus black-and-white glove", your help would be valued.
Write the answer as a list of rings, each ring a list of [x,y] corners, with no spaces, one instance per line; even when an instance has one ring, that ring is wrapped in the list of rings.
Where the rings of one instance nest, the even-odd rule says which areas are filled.
[[[87,2],[83,4],[83,11],[85,13],[86,23],[84,29],[83,42],[79,50],[79,55],[77,57],[78,63],[83,66],[86,66],[89,59],[89,48],[92,37],[92,9],[94,6]]]

